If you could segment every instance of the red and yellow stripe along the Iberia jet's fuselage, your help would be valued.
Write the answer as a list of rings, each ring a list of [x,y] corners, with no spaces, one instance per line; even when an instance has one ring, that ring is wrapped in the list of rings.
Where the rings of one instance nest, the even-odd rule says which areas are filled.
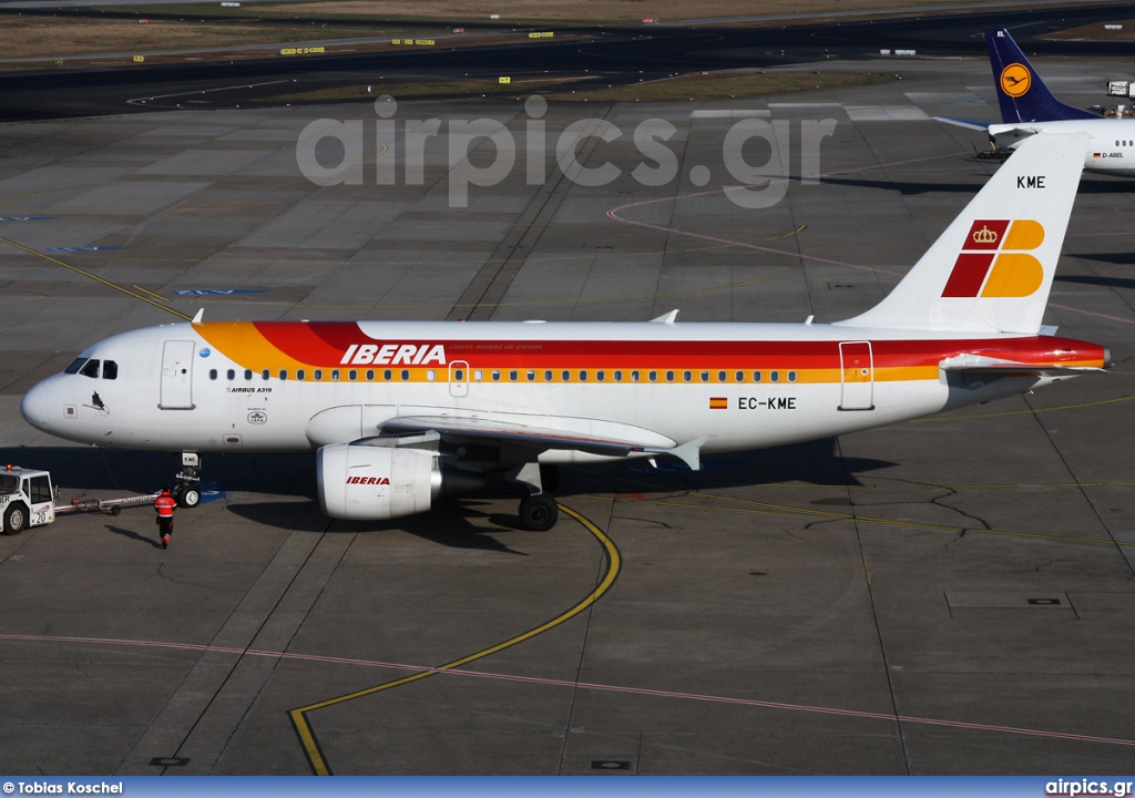
[[[268,369],[272,376],[286,369],[289,373],[305,370],[355,370],[382,372],[409,370],[412,381],[449,379],[448,364],[463,361],[469,369],[489,372],[501,370],[501,381],[511,381],[508,372],[520,371],[519,383],[561,383],[563,372],[579,383],[579,371],[587,370],[589,383],[615,383],[612,372],[622,371],[621,383],[632,383],[631,371],[648,384],[647,375],[656,372],[655,384],[705,385],[754,384],[754,372],[760,372],[762,384],[788,385],[831,384],[841,381],[839,341],[518,341],[518,339],[376,339],[356,322],[201,322],[194,329],[219,354],[245,369]],[[343,363],[352,346],[413,344],[442,345],[447,364]],[[1028,336],[991,339],[905,339],[874,341],[873,373],[876,383],[938,379],[939,363],[958,354],[974,354],[997,360],[1035,364],[1037,367],[1104,366],[1104,350],[1095,344],[1058,338]],[[596,372],[605,372],[604,380]],[[528,379],[528,372],[536,377]],[[546,378],[550,371],[550,379]],[[689,371],[691,379],[686,380]],[[429,375],[432,372],[432,375]],[[666,379],[672,372],[673,378]],[[708,379],[703,380],[703,372]],[[740,379],[738,373],[740,372]],[[779,383],[771,376],[777,372]],[[789,372],[794,379],[789,380]],[[330,379],[327,376],[326,379]],[[468,379],[468,375],[466,375]],[[489,381],[488,373],[484,381]]]

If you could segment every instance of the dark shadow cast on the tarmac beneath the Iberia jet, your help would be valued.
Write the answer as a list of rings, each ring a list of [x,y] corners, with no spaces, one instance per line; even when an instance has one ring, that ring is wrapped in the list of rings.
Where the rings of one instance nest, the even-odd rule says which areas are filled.
[[[173,482],[178,463],[178,456],[170,453],[86,447],[0,448],[0,463],[51,471],[62,503],[94,490],[111,492],[115,496],[153,493]],[[840,488],[859,485],[856,474],[894,465],[888,461],[840,457],[834,438],[707,455],[700,471],[690,471],[671,457],[657,457],[655,462],[657,467],[645,459],[565,467],[553,493],[557,498],[570,499],[585,494],[683,494],[792,481]],[[317,492],[311,454],[205,455],[203,465],[202,476],[220,482],[226,490],[227,512],[276,529],[318,534],[329,529],[339,532],[398,529],[443,546],[522,554],[495,537],[521,530],[511,511],[499,512],[497,504],[489,509],[491,499],[518,496],[502,479],[490,478],[484,493],[444,499],[429,513],[393,521],[333,524],[312,506]],[[264,494],[266,501],[241,502],[234,498],[234,493]],[[272,501],[268,496],[285,496],[288,501]],[[144,534],[114,526],[107,529],[157,545]]]

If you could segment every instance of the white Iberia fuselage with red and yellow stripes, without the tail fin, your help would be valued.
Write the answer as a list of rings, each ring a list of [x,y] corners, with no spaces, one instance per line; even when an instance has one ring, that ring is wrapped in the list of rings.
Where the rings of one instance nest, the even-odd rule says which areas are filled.
[[[140,450],[311,451],[378,435],[390,419],[430,417],[663,448],[708,436],[701,451],[722,452],[877,427],[1052,381],[962,379],[939,368],[959,354],[1076,356],[1066,339],[1045,336],[915,337],[831,325],[260,327],[270,329],[215,322],[114,336],[79,359],[89,373],[100,361],[98,377],[57,375],[28,392],[23,412],[59,437]],[[378,343],[363,350],[350,341]],[[1099,364],[1094,356],[1081,361]],[[572,450],[540,456],[594,459]]]

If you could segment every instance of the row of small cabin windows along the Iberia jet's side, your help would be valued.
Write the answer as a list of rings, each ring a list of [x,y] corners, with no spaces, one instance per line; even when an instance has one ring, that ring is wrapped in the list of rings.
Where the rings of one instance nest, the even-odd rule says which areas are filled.
[[[632,369],[624,371],[623,369],[614,369],[608,371],[606,369],[579,369],[578,371],[572,371],[569,369],[562,369],[558,371],[553,369],[512,369],[512,370],[501,370],[491,369],[486,372],[484,369],[471,369],[472,379],[474,383],[493,381],[493,383],[763,383],[767,377],[770,383],[780,383],[781,372],[777,370],[768,371],[673,371],[673,370],[639,370]],[[447,372],[442,373],[443,381],[445,380]],[[246,380],[254,379],[259,376],[261,379],[271,379],[271,371],[263,369],[262,371],[254,372],[252,369],[244,369],[243,377]],[[289,379],[292,372],[287,369],[280,369],[278,377],[279,379]],[[368,383],[373,383],[377,379],[381,381],[389,383],[395,379],[395,371],[393,369],[386,369],[381,372],[375,369],[367,369],[365,372],[360,372],[356,369],[351,369],[350,371],[342,372],[339,369],[331,369],[330,371],[325,371],[323,369],[314,369],[311,372],[311,378],[321,383],[325,379],[329,379],[331,383],[338,383],[345,376],[347,381],[355,383],[360,378],[363,378]],[[296,369],[295,379],[305,380],[308,379],[308,371],[305,369]],[[210,369],[209,379],[219,379],[220,372],[217,369]],[[237,378],[236,369],[228,369],[225,372],[225,378],[228,380],[235,380]],[[397,379],[407,383],[410,381],[410,369],[401,369],[397,371]],[[436,369],[426,370],[426,380],[429,383],[437,381],[438,372]],[[453,381],[464,383],[468,377],[464,369],[453,370]],[[794,383],[797,379],[796,371],[788,371],[784,373],[784,379],[789,383]]]

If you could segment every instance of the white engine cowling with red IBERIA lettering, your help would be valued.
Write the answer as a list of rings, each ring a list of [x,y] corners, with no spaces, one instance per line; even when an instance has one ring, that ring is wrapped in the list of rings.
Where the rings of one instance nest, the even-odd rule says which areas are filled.
[[[319,506],[351,521],[423,513],[442,495],[437,452],[394,446],[323,446],[316,455]]]

